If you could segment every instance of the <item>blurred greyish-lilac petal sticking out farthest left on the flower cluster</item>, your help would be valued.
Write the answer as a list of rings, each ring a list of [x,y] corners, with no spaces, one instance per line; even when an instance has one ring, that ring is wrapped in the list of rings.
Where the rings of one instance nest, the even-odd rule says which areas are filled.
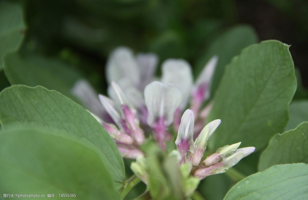
[[[80,99],[86,108],[104,119],[107,112],[99,102],[94,88],[87,80],[77,80],[72,88],[72,93]]]

